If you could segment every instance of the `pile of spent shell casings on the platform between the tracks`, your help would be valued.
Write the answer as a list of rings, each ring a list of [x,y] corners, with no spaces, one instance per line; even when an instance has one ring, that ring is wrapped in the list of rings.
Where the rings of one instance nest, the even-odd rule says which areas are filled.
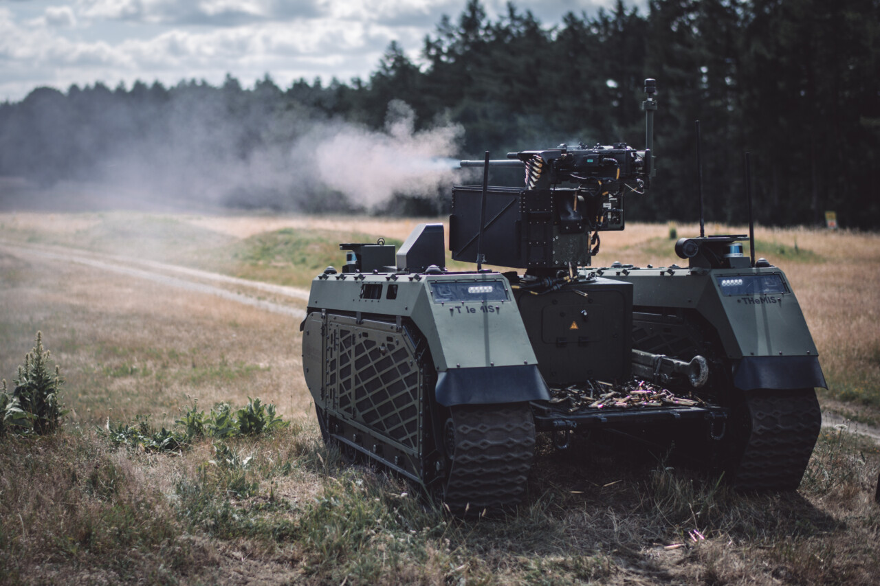
[[[699,407],[703,401],[693,395],[679,397],[669,389],[647,381],[632,380],[623,385],[609,385],[598,381],[588,381],[583,385],[572,385],[564,389],[554,389],[550,404],[554,407],[575,413],[584,408],[639,408],[639,407]]]

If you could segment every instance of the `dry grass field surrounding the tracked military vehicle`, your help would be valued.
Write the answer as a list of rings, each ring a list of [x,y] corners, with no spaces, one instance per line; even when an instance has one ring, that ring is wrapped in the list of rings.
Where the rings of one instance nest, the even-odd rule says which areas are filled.
[[[825,429],[794,498],[731,494],[653,458],[542,445],[526,504],[459,522],[321,445],[299,319],[282,312],[301,310],[302,299],[199,273],[180,288],[95,264],[307,288],[343,263],[339,242],[400,244],[418,221],[0,216],[0,377],[15,376],[40,330],[70,409],[58,436],[0,439],[3,582],[876,581],[880,457],[861,436]],[[669,231],[630,224],[605,233],[596,261],[680,263]],[[708,227],[729,231],[744,228]],[[759,228],[756,239],[758,255],[786,271],[810,325],[830,386],[823,409],[876,425],[880,237]],[[77,261],[64,260],[72,253]],[[116,448],[95,432],[138,415],[172,427],[194,401],[241,406],[248,397],[274,403],[290,428],[203,440],[178,456]]]

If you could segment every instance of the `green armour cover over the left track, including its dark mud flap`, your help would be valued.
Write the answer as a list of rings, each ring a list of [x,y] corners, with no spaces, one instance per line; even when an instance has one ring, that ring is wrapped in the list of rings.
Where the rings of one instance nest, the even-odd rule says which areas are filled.
[[[479,292],[495,291],[488,300]],[[470,292],[469,292],[470,291]],[[389,298],[391,297],[391,298]],[[549,399],[546,385],[537,374],[537,359],[525,333],[523,320],[510,291],[510,283],[497,273],[469,275],[348,275],[319,277],[312,282],[309,317],[304,321],[304,367],[306,382],[315,400],[328,387],[324,372],[319,381],[314,372],[326,370],[316,364],[330,364],[331,355],[312,342],[325,338],[326,353],[335,341],[327,324],[318,333],[316,314],[348,315],[360,320],[379,319],[397,324],[410,319],[428,345],[434,370],[445,381],[438,399],[446,406]],[[322,357],[323,356],[323,357]],[[534,374],[505,376],[510,367],[528,367]],[[482,369],[495,369],[489,376]],[[502,370],[507,369],[507,370]],[[446,377],[448,370],[471,373],[481,384],[463,385],[462,375]],[[467,387],[467,390],[465,390]],[[319,390],[316,392],[316,389]]]

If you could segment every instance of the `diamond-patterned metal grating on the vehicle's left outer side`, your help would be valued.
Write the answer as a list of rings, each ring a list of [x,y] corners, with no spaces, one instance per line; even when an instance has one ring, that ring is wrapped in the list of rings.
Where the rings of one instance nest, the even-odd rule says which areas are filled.
[[[380,322],[334,322],[327,360],[332,404],[346,418],[418,450],[420,380],[407,339]]]

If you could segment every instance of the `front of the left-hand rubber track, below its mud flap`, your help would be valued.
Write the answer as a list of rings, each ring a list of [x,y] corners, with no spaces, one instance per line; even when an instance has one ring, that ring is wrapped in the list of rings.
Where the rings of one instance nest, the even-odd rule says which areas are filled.
[[[444,502],[456,514],[479,514],[519,502],[535,452],[528,405],[452,408],[455,455]]]

